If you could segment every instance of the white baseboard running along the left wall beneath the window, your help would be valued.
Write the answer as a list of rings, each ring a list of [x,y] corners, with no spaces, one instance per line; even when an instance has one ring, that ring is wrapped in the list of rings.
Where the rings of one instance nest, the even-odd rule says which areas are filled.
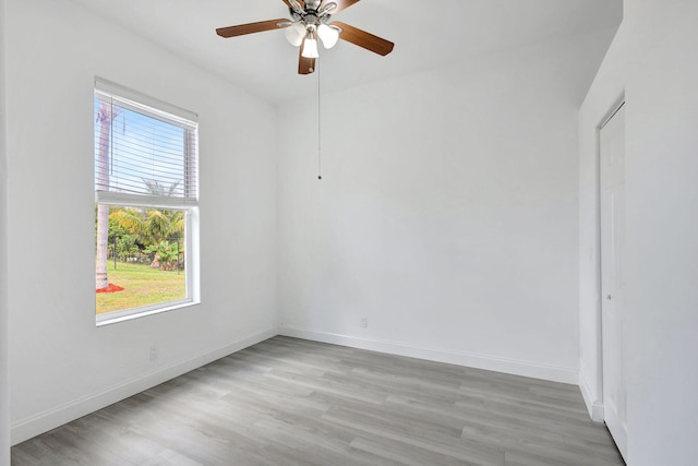
[[[255,345],[265,339],[278,335],[278,328],[268,330],[254,335],[242,337],[224,347],[216,348],[193,358],[177,362],[172,366],[159,369],[145,377],[132,379],[121,384],[111,386],[103,392],[95,393],[56,408],[39,413],[29,418],[22,419],[11,426],[11,442],[13,445],[24,442],[40,433],[47,432],[82,416],[133,396],[145,390],[159,385],[163,382],[174,379],[189,371],[197,369],[232,353]]]

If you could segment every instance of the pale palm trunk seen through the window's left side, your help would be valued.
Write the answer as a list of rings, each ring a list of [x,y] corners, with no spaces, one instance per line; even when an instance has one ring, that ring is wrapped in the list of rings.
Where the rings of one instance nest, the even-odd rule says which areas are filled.
[[[97,113],[99,122],[99,153],[97,156],[97,189],[109,190],[109,143],[111,135],[111,122],[113,115],[111,105],[99,104]],[[109,247],[109,206],[97,205],[97,260],[95,268],[95,285],[97,289],[109,286],[107,277],[107,251]]]

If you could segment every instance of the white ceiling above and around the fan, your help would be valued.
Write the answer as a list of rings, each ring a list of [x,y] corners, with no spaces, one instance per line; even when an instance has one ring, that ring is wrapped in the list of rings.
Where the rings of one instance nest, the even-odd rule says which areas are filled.
[[[315,89],[282,31],[224,39],[216,27],[288,17],[281,0],[73,0],[188,60],[279,103]],[[396,44],[381,57],[321,48],[323,87],[346,88],[544,39],[616,27],[622,0],[362,0],[334,19]]]

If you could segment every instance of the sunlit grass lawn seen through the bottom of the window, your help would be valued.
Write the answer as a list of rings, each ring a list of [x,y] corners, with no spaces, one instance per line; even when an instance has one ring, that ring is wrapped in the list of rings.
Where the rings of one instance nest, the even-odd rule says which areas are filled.
[[[140,308],[186,297],[184,272],[165,272],[149,265],[113,261],[107,265],[109,283],[123,288],[118,292],[97,292],[97,313]]]

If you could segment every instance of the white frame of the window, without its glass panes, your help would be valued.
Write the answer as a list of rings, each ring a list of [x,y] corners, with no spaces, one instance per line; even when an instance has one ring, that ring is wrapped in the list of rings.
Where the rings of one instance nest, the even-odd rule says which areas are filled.
[[[201,303],[200,284],[200,232],[198,232],[198,116],[189,110],[146,96],[136,91],[122,87],[112,82],[96,77],[93,105],[95,99],[111,98],[115,105],[136,111],[149,118],[179,126],[185,130],[184,143],[184,196],[170,198],[127,192],[100,191],[97,179],[97,157],[93,153],[93,177],[95,206],[124,206],[136,208],[169,208],[184,212],[184,283],[185,298],[166,301],[139,308],[110,311],[97,314],[95,301],[95,321],[97,326],[124,322],[132,319],[154,315],[176,309],[188,308]],[[93,122],[93,134],[96,122]],[[111,154],[110,154],[111,156]],[[192,191],[193,190],[193,191]]]

